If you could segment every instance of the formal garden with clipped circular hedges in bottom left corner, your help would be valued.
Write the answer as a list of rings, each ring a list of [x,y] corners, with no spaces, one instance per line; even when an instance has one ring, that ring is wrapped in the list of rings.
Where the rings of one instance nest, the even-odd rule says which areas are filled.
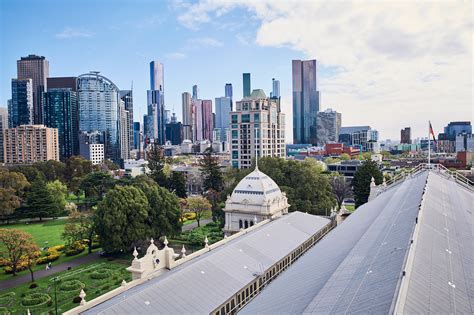
[[[14,289],[0,292],[0,314],[26,314],[27,309],[32,314],[54,314],[55,296],[54,283],[51,280],[57,277],[56,295],[58,313],[61,314],[78,306],[74,297],[79,295],[83,288],[86,300],[92,300],[116,287],[122,280],[130,281],[131,274],[125,270],[127,266],[105,259],[100,262],[83,265],[77,269],[64,271],[51,277],[38,279],[38,287],[30,289],[30,283]],[[8,312],[10,313],[8,313]]]

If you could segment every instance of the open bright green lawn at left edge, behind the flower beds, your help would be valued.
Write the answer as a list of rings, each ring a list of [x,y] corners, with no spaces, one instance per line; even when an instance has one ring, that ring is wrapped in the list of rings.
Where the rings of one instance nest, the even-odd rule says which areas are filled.
[[[18,229],[30,233],[39,247],[51,247],[64,244],[61,234],[64,231],[66,220],[48,220],[43,222],[34,222],[30,224],[18,223],[1,225],[0,228]]]

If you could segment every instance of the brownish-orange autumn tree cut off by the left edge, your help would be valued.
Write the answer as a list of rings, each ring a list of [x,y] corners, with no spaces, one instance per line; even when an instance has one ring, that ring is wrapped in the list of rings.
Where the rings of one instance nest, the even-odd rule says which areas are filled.
[[[22,173],[0,170],[0,218],[8,219],[20,207],[23,191],[28,186]]]

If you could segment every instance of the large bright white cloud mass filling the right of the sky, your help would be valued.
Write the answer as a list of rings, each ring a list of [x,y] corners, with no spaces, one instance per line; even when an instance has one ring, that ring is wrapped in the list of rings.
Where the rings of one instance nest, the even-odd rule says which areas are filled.
[[[370,124],[398,138],[405,126],[426,135],[428,119],[441,131],[473,118],[470,1],[202,0],[178,20],[196,29],[236,8],[260,21],[258,45],[291,47],[341,70],[319,88],[323,108],[342,112],[344,125]]]

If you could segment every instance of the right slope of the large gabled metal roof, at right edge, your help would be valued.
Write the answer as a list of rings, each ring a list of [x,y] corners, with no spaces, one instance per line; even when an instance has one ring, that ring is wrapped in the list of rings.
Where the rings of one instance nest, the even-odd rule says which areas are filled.
[[[401,310],[474,314],[472,192],[431,173],[422,211]]]

